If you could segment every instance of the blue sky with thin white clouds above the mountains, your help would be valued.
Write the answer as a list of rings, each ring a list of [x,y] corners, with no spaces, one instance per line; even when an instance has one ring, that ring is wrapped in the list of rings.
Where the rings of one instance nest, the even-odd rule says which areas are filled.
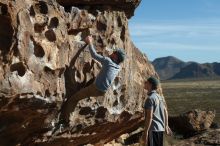
[[[142,0],[129,31],[150,60],[220,62],[220,0]]]

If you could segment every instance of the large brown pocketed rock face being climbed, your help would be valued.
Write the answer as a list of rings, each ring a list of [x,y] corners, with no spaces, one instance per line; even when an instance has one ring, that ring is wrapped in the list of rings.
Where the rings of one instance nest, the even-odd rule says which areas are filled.
[[[53,0],[0,0],[0,145],[103,145],[142,121],[143,78],[156,73],[130,40],[131,15],[117,1],[80,2],[65,11]],[[133,13],[139,1],[132,3]],[[100,54],[119,47],[127,59],[105,97],[78,103],[70,133],[50,137],[65,98],[100,71],[83,49],[88,34]]]

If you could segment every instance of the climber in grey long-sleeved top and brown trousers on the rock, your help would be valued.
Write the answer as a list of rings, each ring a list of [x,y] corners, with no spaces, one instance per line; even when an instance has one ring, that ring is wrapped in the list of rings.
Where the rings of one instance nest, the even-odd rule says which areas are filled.
[[[90,96],[98,97],[105,95],[106,91],[120,71],[120,64],[125,59],[125,52],[123,49],[117,49],[108,57],[104,57],[97,54],[93,45],[92,36],[87,36],[85,42],[89,45],[91,56],[102,64],[102,68],[93,84],[76,92],[63,104],[61,107],[59,121],[55,125],[56,129],[57,127],[62,126],[68,127],[70,113],[74,111],[78,101]]]

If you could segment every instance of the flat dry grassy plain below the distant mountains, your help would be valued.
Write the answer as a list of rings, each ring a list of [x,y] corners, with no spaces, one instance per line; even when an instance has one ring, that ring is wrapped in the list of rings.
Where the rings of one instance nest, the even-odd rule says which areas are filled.
[[[220,80],[179,80],[162,82],[170,115],[191,109],[215,110],[220,123]]]

